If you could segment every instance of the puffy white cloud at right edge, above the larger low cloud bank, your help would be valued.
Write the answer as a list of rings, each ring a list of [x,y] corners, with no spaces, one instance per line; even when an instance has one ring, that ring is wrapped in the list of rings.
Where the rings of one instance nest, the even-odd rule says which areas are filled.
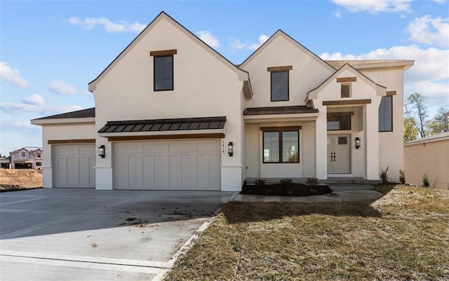
[[[410,22],[407,31],[411,41],[449,46],[449,18],[431,18],[430,15],[424,15]]]

